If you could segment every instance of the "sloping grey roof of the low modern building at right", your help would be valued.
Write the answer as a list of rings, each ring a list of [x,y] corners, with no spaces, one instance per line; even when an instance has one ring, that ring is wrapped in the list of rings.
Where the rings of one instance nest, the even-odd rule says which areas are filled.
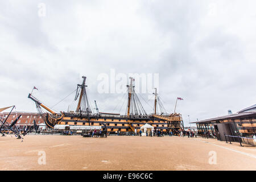
[[[221,117],[210,118],[210,119],[205,119],[202,121],[196,121],[191,123],[209,123],[212,121],[220,121],[224,119],[237,119],[237,118],[245,118],[245,117],[253,117],[253,116],[256,116],[256,104],[253,106],[247,107],[241,111],[238,111],[237,113],[234,113],[234,114],[223,115]]]

